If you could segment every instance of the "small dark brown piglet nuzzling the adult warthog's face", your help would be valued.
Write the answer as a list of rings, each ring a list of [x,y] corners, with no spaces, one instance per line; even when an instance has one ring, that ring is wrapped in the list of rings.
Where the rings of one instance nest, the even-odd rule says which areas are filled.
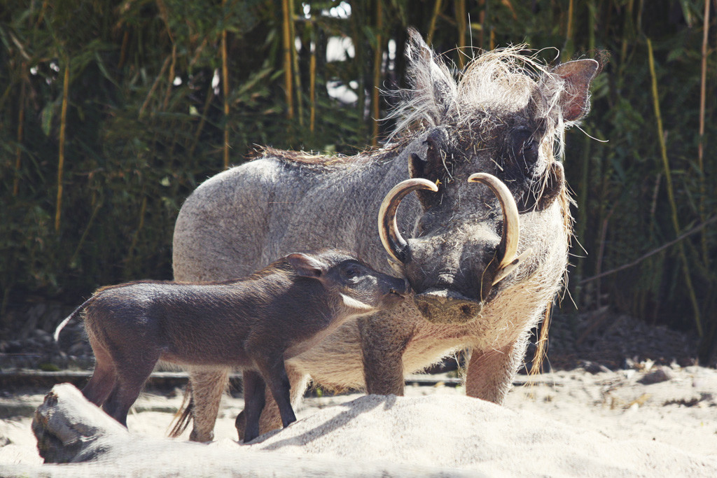
[[[403,279],[335,251],[289,254],[228,282],[141,281],[105,287],[67,317],[84,312],[95,353],[85,397],[126,426],[158,360],[242,368],[247,433],[259,434],[265,383],[284,426],[295,421],[285,360],[308,350],[349,317],[396,304]]]

